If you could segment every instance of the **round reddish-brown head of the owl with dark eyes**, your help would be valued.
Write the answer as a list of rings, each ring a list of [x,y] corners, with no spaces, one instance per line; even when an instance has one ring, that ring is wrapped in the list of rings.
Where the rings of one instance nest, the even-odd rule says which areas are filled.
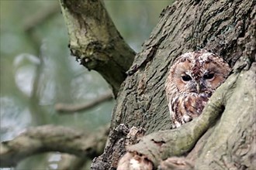
[[[179,92],[212,93],[229,73],[230,66],[219,56],[199,51],[179,56],[169,75]]]

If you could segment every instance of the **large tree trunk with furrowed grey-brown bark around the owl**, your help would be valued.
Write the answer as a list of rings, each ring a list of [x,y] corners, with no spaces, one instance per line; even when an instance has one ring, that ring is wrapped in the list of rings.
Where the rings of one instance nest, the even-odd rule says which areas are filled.
[[[165,8],[119,90],[109,145],[92,168],[116,168],[129,140],[129,131],[120,130],[119,124],[146,130],[149,135],[126,151],[147,158],[155,168],[173,156],[194,162],[187,165],[196,169],[256,168],[255,12],[255,0],[184,0]],[[164,92],[168,70],[177,56],[197,49],[220,55],[234,70],[198,119],[161,131],[171,128]],[[120,131],[123,135],[114,135]],[[177,160],[161,168],[171,168]]]

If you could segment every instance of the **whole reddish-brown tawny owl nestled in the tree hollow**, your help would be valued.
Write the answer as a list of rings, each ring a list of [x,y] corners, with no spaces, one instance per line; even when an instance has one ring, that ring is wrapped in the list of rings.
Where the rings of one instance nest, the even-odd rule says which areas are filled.
[[[198,117],[209,97],[229,73],[230,66],[206,50],[178,56],[165,83],[174,128]]]

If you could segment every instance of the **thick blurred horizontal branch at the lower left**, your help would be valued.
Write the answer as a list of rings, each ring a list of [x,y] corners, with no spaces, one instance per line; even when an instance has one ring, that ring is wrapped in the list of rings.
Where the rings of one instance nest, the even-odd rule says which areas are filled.
[[[106,130],[108,129],[108,130]],[[0,167],[15,166],[30,155],[59,151],[79,157],[94,158],[102,153],[109,128],[86,135],[61,126],[45,125],[31,128],[11,141],[0,145]]]

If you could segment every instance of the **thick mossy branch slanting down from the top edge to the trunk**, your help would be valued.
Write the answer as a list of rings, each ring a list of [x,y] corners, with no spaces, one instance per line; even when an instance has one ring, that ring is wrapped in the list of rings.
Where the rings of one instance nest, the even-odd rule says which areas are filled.
[[[100,0],[60,0],[71,53],[98,71],[116,97],[135,52],[124,42]]]

